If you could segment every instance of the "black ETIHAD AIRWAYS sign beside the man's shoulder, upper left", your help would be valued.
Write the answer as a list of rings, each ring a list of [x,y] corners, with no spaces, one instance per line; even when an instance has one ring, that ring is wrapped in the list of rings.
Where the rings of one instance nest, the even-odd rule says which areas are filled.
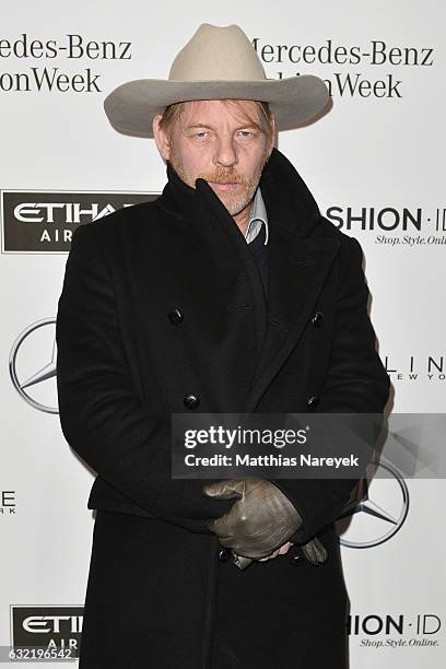
[[[79,225],[155,200],[154,192],[2,190],[2,253],[67,253]]]

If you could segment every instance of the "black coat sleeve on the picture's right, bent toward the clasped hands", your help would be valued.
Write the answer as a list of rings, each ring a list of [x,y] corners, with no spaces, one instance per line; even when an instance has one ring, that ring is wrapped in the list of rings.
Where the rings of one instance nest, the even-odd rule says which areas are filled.
[[[317,389],[320,390],[318,412],[382,414],[390,382],[376,352],[375,332],[367,313],[369,293],[362,270],[363,253],[356,239],[348,239],[327,376],[324,387]],[[373,444],[377,437],[373,421],[367,422],[366,431],[364,439]],[[274,480],[304,520],[290,541],[305,543],[334,521],[357,481],[340,478]]]

